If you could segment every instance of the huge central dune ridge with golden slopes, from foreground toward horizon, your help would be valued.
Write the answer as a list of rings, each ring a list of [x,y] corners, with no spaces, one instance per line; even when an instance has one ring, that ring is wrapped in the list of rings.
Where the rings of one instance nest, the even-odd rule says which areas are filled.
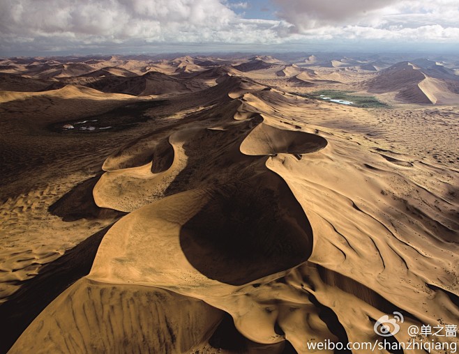
[[[356,108],[236,83],[219,88],[230,100],[107,158],[96,203],[131,213],[11,353],[204,353],[221,313],[202,301],[251,341],[299,353],[375,341],[375,321],[395,310],[398,341],[412,324],[459,322],[458,171],[340,128]]]

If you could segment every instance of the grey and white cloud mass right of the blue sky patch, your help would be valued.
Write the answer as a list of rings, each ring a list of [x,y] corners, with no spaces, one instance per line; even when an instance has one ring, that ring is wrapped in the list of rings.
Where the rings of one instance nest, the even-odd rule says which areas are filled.
[[[459,42],[457,0],[274,0],[292,32],[308,38]]]

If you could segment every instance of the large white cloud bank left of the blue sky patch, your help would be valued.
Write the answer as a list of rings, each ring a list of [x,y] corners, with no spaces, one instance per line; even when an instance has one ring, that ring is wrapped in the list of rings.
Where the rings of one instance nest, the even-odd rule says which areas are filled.
[[[243,20],[219,0],[0,0],[0,8],[3,50],[34,42],[41,51],[142,42],[277,43],[284,23]]]

